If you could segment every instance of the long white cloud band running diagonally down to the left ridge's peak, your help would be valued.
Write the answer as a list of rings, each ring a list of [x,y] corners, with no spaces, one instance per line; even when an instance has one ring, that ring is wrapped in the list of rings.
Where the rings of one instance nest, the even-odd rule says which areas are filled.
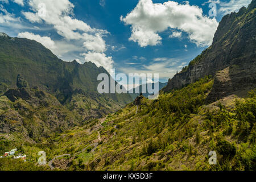
[[[63,36],[67,42],[72,40],[82,42],[85,61],[90,59],[89,61],[106,69],[113,67],[112,57],[107,57],[104,53],[106,43],[103,37],[109,32],[92,28],[82,20],[73,18],[75,6],[69,0],[29,0],[28,5],[31,11],[23,12],[23,15],[30,22],[52,25],[57,34]],[[81,60],[80,63],[82,62]]]

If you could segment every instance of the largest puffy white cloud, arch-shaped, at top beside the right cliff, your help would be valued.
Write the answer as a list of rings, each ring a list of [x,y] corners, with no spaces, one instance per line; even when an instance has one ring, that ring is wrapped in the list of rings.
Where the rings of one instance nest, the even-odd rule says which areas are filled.
[[[131,25],[129,40],[138,42],[141,47],[160,44],[162,38],[159,32],[168,28],[187,32],[189,40],[197,46],[209,46],[218,26],[215,18],[204,16],[202,9],[188,2],[167,1],[162,4],[140,0],[133,11],[120,19]]]

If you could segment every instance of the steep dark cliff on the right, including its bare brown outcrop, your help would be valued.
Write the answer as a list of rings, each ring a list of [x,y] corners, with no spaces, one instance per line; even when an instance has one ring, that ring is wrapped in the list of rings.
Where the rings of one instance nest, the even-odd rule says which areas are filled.
[[[212,46],[170,79],[163,91],[182,88],[209,75],[215,77],[210,101],[255,88],[255,4],[253,0],[247,9],[242,7],[238,13],[225,15],[214,35]]]

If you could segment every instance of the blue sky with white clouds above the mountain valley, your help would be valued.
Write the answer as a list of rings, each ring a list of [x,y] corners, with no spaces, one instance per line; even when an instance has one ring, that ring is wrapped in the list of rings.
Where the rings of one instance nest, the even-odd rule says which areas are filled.
[[[166,82],[210,46],[225,14],[250,2],[0,0],[0,32],[36,40],[64,61]]]

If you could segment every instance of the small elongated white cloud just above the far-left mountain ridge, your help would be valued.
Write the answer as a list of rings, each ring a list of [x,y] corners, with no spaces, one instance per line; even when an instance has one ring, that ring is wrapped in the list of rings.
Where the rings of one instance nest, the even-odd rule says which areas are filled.
[[[40,36],[40,35],[35,35],[30,32],[21,32],[18,34],[19,38],[27,38],[30,40],[35,40],[36,42],[39,42],[43,44],[44,47],[54,50],[56,48],[55,42],[49,38],[48,36]]]

